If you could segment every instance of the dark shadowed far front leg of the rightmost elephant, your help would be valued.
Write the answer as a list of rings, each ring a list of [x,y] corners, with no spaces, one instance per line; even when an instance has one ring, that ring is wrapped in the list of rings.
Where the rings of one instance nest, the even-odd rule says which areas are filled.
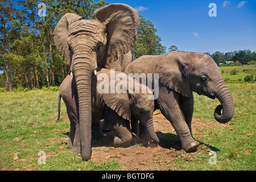
[[[191,135],[192,135],[191,123],[192,123],[193,109],[194,109],[193,105],[194,105],[193,97],[192,98],[184,97],[180,99],[180,109],[184,114],[185,121],[188,125]]]

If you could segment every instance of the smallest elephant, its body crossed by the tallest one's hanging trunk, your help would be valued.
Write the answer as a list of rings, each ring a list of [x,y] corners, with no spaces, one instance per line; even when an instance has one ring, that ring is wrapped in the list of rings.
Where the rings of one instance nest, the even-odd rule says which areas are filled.
[[[115,79],[116,77],[122,77],[122,80]],[[106,127],[117,135],[114,137],[114,146],[127,147],[133,138],[129,120],[131,117],[135,117],[147,128],[151,139],[155,143],[159,143],[152,120],[154,100],[148,99],[152,96],[152,92],[147,90],[147,93],[134,93],[138,85],[141,90],[145,87],[131,78],[129,80],[129,76],[123,72],[102,68],[97,72],[97,77],[93,75],[92,134],[100,134],[99,121],[105,119]],[[63,97],[71,122],[67,148],[73,148],[73,152],[80,152],[79,98],[76,88],[75,77],[72,75],[68,75],[60,85],[58,119],[60,118],[60,100]]]

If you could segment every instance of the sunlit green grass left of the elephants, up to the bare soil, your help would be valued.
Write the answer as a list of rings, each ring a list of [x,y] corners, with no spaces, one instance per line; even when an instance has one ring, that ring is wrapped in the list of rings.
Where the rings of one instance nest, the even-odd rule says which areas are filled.
[[[85,163],[66,148],[69,121],[56,119],[57,94],[43,90],[0,93],[0,170],[121,169],[114,158]],[[61,114],[67,115],[63,101]],[[38,164],[39,151],[46,152],[46,165]]]

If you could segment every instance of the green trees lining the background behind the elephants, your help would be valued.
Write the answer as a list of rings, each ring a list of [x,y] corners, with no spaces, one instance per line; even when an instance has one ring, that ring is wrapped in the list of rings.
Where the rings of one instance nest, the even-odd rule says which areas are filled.
[[[47,8],[45,16],[38,14],[41,2]],[[92,0],[0,1],[0,88],[59,86],[70,69],[53,41],[57,22],[66,13],[94,19],[94,11],[106,5],[106,1],[95,3]],[[166,52],[156,32],[154,24],[141,16],[136,42],[131,49],[133,59]],[[178,51],[178,48],[171,46],[168,51]],[[239,60],[242,64],[256,60],[255,52],[250,50],[214,52],[210,56],[217,64],[227,60]]]

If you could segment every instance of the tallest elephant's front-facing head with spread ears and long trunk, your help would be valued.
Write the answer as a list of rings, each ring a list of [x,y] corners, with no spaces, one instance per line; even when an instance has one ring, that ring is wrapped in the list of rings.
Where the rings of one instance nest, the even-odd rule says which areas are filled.
[[[110,4],[94,12],[96,19],[67,13],[53,31],[56,48],[71,67],[77,85],[81,157],[89,160],[91,149],[92,75],[128,53],[135,42],[139,14],[132,7]]]

